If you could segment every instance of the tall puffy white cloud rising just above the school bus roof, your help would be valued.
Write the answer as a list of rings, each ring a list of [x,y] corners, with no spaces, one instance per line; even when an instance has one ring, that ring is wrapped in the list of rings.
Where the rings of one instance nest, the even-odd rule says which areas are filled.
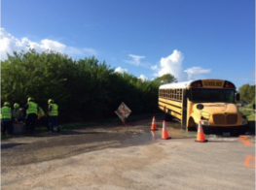
[[[158,71],[154,76],[161,77],[165,74],[174,76],[178,81],[185,81],[188,79],[200,79],[201,74],[210,73],[210,69],[203,69],[201,67],[192,67],[183,70],[184,56],[181,51],[174,49],[173,52],[167,57],[163,57],[160,60],[160,67],[158,65],[152,66],[151,69]]]

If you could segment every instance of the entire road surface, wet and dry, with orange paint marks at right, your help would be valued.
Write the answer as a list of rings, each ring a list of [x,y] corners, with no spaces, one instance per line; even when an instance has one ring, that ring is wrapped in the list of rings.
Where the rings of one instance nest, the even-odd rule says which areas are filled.
[[[205,136],[151,120],[1,143],[1,189],[255,189],[255,137]]]

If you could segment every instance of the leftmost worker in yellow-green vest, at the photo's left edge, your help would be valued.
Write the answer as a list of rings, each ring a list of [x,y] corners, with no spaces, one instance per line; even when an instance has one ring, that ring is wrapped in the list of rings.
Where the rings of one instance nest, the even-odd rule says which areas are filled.
[[[14,125],[12,121],[12,110],[10,108],[9,102],[4,103],[4,107],[1,108],[0,117],[2,135],[6,135],[6,131],[8,131],[9,135],[12,135],[14,131]]]

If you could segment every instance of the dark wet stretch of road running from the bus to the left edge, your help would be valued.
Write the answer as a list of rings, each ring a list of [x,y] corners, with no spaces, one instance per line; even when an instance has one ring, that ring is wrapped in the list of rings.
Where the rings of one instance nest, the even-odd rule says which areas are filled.
[[[18,166],[61,159],[109,147],[126,147],[154,143],[162,139],[163,123],[156,118],[157,131],[151,131],[151,118],[128,123],[127,126],[97,126],[63,129],[59,134],[15,136],[1,142],[2,166]],[[187,132],[178,122],[166,122],[168,136],[172,139],[195,139],[197,131]],[[205,136],[205,138],[222,138]],[[3,171],[2,171],[3,172]]]

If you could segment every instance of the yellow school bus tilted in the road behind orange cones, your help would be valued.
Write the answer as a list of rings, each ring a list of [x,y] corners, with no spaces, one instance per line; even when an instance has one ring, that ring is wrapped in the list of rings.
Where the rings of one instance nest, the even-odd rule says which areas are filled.
[[[238,111],[236,100],[239,94],[235,84],[223,79],[168,83],[159,88],[159,109],[189,131],[197,129],[201,120],[204,134],[240,135],[248,130],[248,121]],[[199,104],[202,110],[197,109]]]

